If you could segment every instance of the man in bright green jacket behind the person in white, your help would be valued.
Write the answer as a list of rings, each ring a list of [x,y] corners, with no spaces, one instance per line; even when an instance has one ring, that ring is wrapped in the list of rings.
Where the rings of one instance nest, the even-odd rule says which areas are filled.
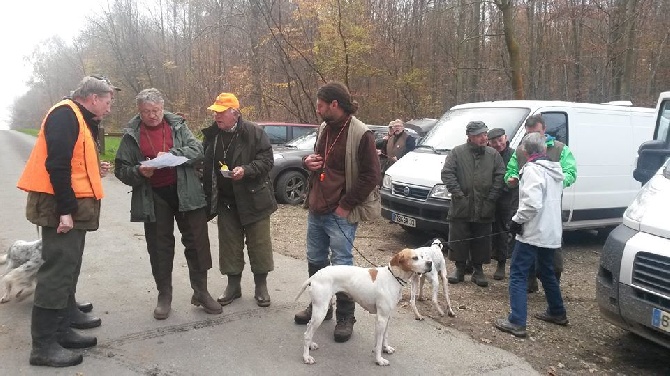
[[[546,138],[547,143],[547,157],[552,162],[558,162],[563,170],[565,180],[563,180],[563,188],[571,186],[577,180],[577,162],[572,155],[572,151],[568,145],[558,141],[551,135],[545,134],[547,125],[541,115],[529,116],[525,123],[526,134],[540,133]],[[505,182],[511,188],[516,188],[519,185],[519,170],[526,164],[527,158],[517,147],[512,158],[507,164],[507,172],[505,173]],[[561,282],[561,274],[563,273],[563,252],[558,248],[554,252],[554,272],[556,279]],[[530,271],[528,278],[528,292],[538,291],[537,276],[535,275],[535,268]]]

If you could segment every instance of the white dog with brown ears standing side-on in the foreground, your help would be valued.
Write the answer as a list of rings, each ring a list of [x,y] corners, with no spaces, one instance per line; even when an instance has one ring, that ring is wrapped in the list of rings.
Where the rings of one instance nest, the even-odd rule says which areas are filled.
[[[302,295],[307,286],[312,299],[312,318],[305,331],[303,361],[314,364],[309,350],[319,348],[312,341],[314,333],[323,322],[330,301],[338,292],[349,294],[366,311],[377,315],[375,326],[375,360],[380,366],[389,365],[382,358],[382,351],[393,354],[395,349],[388,344],[388,325],[393,310],[402,297],[402,288],[414,273],[426,273],[432,268],[432,261],[413,249],[403,249],[393,256],[389,266],[379,268],[361,268],[352,265],[327,266],[305,283],[296,296]]]

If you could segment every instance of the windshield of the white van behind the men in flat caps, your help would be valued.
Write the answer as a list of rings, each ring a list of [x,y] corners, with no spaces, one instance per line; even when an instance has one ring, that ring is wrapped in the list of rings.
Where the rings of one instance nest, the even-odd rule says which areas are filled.
[[[475,120],[483,121],[489,129],[503,128],[508,135],[514,135],[530,109],[510,107],[477,107],[449,110],[421,141],[421,146],[431,150],[451,150],[463,144],[465,126]],[[510,139],[512,136],[509,137]]]

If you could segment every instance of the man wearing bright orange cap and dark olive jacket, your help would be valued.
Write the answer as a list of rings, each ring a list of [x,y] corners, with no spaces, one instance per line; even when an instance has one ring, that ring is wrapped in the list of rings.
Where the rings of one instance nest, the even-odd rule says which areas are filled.
[[[234,94],[219,94],[208,109],[214,111],[214,122],[202,130],[203,185],[207,214],[218,218],[219,267],[228,276],[226,290],[217,300],[225,306],[242,296],[246,240],[256,284],[254,299],[259,307],[268,307],[267,276],[274,269],[270,215],[277,210],[269,177],[272,145],[262,128],[242,119]]]

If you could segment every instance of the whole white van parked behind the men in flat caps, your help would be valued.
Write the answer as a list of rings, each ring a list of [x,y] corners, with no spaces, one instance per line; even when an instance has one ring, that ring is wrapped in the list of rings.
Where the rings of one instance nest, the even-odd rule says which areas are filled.
[[[563,228],[613,227],[640,190],[633,179],[638,146],[653,136],[654,109],[561,101],[494,101],[452,107],[421,144],[383,179],[382,216],[407,231],[445,234],[450,196],[441,180],[446,154],[466,141],[465,126],[481,120],[503,128],[516,148],[528,116],[540,114],[548,134],[567,144],[577,181],[563,194]]]

